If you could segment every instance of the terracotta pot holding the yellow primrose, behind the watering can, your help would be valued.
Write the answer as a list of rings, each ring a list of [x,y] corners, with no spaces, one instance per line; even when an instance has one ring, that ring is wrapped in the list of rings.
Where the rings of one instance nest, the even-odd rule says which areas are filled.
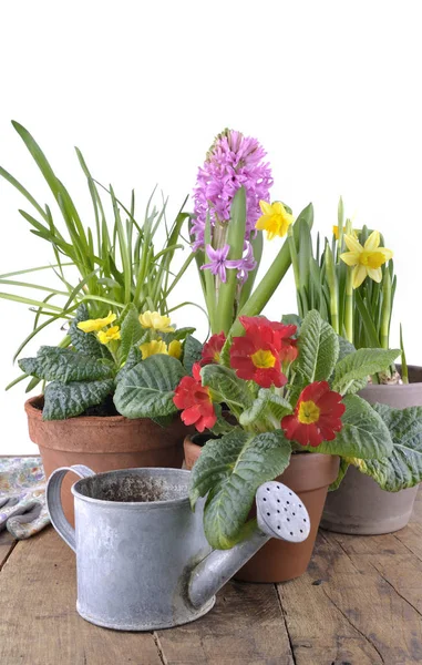
[[[29,436],[38,444],[47,478],[54,469],[85,464],[96,471],[136,467],[179,469],[183,462],[183,439],[187,428],[179,417],[162,428],[148,419],[130,420],[123,416],[79,416],[66,420],[42,420],[43,397],[32,397],[24,409]],[[38,407],[38,408],[37,408]],[[79,480],[69,473],[63,481],[64,514],[73,524],[72,484]]]

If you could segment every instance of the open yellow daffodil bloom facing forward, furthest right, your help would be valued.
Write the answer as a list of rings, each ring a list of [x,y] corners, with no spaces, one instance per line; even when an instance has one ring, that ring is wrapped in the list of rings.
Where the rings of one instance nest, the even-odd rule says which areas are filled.
[[[351,235],[344,235],[344,242],[349,252],[340,254],[340,258],[353,267],[353,288],[358,288],[368,277],[374,282],[381,282],[381,266],[392,258],[391,249],[380,247],[380,234],[373,231],[366,244],[362,245]]]

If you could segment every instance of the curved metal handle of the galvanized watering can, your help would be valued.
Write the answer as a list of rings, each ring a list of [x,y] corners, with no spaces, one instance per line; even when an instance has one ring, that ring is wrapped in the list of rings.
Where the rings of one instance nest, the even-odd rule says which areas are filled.
[[[68,520],[64,516],[62,500],[61,500],[61,489],[64,477],[69,471],[72,473],[76,473],[80,478],[88,478],[89,475],[95,475],[95,472],[92,471],[89,467],[84,467],[83,464],[74,464],[73,467],[61,467],[53,471],[50,475],[49,482],[47,483],[47,508],[49,510],[49,515],[52,525],[59,535],[62,536],[65,543],[73,550],[76,551],[76,543],[74,538],[74,529],[69,524]]]

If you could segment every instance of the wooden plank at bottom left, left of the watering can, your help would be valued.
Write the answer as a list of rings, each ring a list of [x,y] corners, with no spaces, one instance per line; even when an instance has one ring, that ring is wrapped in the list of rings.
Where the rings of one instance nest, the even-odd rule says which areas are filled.
[[[150,633],[109,631],[78,615],[74,554],[52,528],[17,544],[0,598],[2,665],[163,665]]]

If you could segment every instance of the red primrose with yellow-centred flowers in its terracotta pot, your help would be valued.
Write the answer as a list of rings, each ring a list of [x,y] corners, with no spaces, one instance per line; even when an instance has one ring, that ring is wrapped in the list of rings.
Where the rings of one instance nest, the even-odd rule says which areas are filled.
[[[285,481],[302,499],[310,513],[309,539],[295,551],[284,542],[264,548],[238,574],[280,582],[309,563],[340,457],[375,460],[391,452],[382,417],[356,392],[369,371],[388,367],[399,351],[359,350],[344,357],[338,336],[315,310],[297,338],[295,325],[264,317],[241,317],[240,325],[244,336],[210,338],[192,375],[179,380],[173,402],[186,426],[206,434],[205,446],[197,446],[191,501],[194,508],[207,497],[204,528],[213,548],[229,549],[248,533],[255,491],[266,480]],[[123,376],[115,402],[131,402],[140,412],[147,401],[144,406],[137,375],[132,369]],[[191,461],[193,446],[186,442]]]

